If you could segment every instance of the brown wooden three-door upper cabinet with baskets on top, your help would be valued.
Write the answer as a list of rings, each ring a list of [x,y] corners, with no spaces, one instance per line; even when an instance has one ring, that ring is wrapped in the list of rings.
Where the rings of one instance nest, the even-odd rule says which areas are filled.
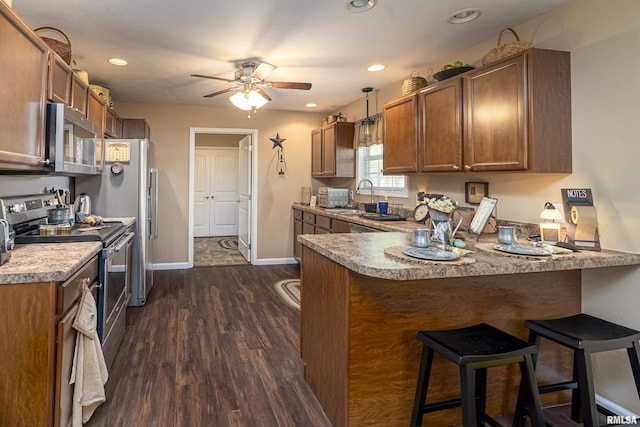
[[[570,68],[529,49],[386,103],[384,173],[571,173]]]

